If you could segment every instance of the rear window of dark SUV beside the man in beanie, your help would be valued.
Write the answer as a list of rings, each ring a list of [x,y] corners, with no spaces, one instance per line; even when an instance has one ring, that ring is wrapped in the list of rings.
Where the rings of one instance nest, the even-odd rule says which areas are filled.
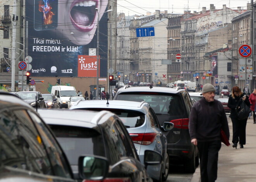
[[[169,95],[160,92],[129,92],[118,94],[116,100],[135,102],[145,101],[149,103],[156,114],[180,116],[184,113],[181,97],[175,94]]]

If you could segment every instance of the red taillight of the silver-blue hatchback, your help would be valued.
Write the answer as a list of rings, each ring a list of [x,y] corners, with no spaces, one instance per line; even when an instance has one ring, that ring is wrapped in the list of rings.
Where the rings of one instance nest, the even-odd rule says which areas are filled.
[[[150,145],[156,138],[156,133],[130,133],[133,143]]]

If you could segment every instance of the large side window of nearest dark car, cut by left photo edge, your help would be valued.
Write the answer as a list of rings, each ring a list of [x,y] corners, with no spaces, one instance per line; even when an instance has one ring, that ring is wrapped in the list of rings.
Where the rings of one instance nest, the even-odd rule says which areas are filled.
[[[0,113],[0,162],[14,168],[53,175],[45,146],[26,110]]]

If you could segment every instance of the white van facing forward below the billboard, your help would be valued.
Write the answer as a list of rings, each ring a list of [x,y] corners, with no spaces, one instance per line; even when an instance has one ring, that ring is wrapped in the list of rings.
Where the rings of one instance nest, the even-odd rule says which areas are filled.
[[[70,97],[77,96],[76,89],[72,86],[52,86],[52,94],[55,95],[57,99],[58,107],[61,108],[67,108],[67,102]]]

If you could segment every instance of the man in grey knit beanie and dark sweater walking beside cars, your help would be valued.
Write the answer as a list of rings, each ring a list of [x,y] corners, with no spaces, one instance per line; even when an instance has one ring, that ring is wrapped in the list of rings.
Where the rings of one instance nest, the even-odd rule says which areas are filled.
[[[214,99],[214,93],[213,85],[206,83],[202,88],[203,98],[195,102],[189,117],[191,143],[199,150],[201,182],[215,182],[217,179],[221,129],[228,139],[230,136],[224,107]]]

